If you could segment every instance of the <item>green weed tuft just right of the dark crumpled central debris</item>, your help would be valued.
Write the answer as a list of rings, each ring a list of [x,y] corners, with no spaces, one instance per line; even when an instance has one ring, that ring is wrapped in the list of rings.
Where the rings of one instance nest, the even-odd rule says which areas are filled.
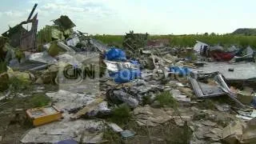
[[[173,98],[169,91],[164,91],[156,96],[156,100],[160,103],[160,106],[164,107],[177,107],[178,102]]]

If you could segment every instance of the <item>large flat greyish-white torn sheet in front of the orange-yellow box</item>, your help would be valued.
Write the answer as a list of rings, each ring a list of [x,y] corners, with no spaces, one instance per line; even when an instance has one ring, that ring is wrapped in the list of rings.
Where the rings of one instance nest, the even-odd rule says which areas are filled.
[[[95,120],[76,120],[71,122],[52,122],[30,130],[21,140],[22,143],[55,143],[73,139],[82,143],[102,142],[103,122]]]

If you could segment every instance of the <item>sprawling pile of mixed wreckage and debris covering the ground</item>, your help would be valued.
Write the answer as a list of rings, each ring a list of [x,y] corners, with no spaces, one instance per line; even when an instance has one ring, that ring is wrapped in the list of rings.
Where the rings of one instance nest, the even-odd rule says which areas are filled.
[[[24,131],[20,142],[98,143],[114,135],[146,143],[256,141],[252,48],[226,50],[203,42],[174,48],[133,31],[126,34],[123,48],[108,47],[74,31],[67,16],[37,33],[37,14],[30,19],[34,9],[26,22],[0,37],[0,106],[30,97],[17,92],[18,86],[58,90],[43,91],[51,100],[46,106],[26,110],[36,127]],[[31,30],[24,29],[29,22]],[[108,128],[113,133],[106,134]],[[6,139],[0,133],[0,141]]]

